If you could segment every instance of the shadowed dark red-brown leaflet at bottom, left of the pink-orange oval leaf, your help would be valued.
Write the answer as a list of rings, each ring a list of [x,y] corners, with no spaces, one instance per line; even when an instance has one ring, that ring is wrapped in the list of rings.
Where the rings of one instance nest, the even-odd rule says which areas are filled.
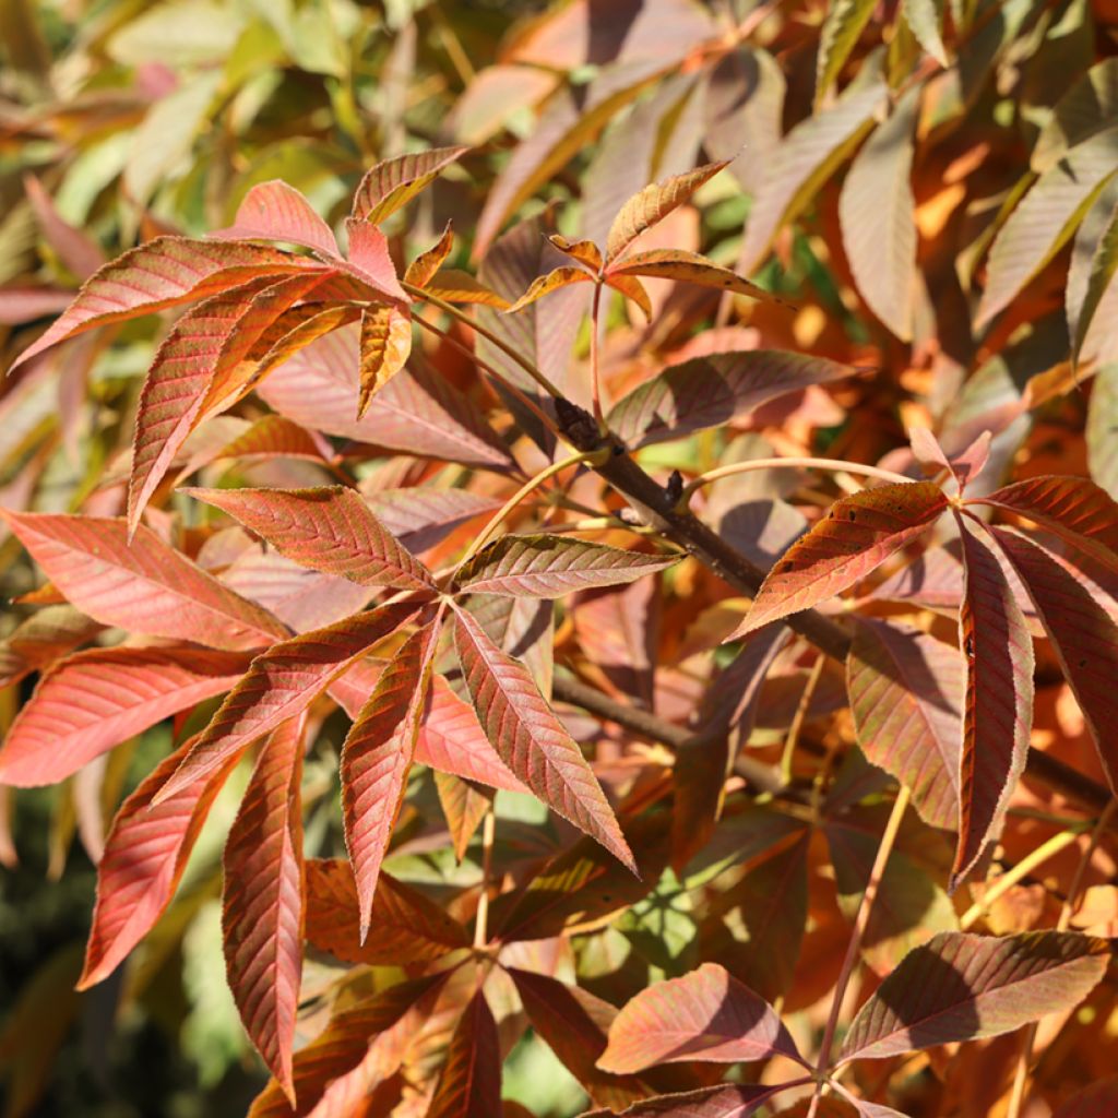
[[[597,1061],[606,1050],[617,1011],[579,986],[546,975],[510,968],[517,993],[537,1034],[579,1081],[595,1106],[620,1109],[648,1096],[635,1076],[603,1072]]]

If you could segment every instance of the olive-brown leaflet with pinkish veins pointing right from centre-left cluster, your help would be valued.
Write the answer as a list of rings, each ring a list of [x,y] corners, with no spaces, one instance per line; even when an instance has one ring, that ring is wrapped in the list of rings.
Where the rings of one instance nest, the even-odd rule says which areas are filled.
[[[561,536],[502,536],[455,572],[473,594],[560,598],[576,590],[632,582],[679,562],[675,556],[625,551]]]

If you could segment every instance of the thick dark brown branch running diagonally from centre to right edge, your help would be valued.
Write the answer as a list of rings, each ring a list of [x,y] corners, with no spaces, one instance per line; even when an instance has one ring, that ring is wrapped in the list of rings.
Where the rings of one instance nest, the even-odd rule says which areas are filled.
[[[766,571],[683,508],[681,502],[683,486],[678,474],[672,475],[667,485],[661,485],[641,468],[616,435],[612,433],[603,435],[598,430],[598,425],[588,411],[562,397],[556,399],[555,404],[561,433],[574,447],[584,452],[599,451],[604,445],[609,447],[608,458],[601,465],[594,465],[593,468],[628,501],[645,523],[683,548],[688,555],[698,559],[730,586],[750,597],[756,596],[765,580]],[[805,609],[786,618],[785,624],[826,655],[845,663],[851,636],[837,622],[814,609]],[[578,700],[571,701],[582,705]],[[591,707],[586,709],[594,710]],[[644,712],[634,713],[645,717]],[[613,716],[605,717],[613,718]],[[652,716],[646,717],[652,718]],[[635,726],[619,718],[614,718],[614,721],[636,730]],[[654,719],[654,721],[660,720]],[[657,733],[651,736],[665,745],[672,745],[663,736],[667,732],[664,729],[667,726],[669,723],[662,723],[659,736]],[[671,727],[671,730],[686,732],[679,727]],[[1109,789],[1070,765],[1036,749],[1030,750],[1025,771],[1046,787],[1096,812],[1102,811],[1111,799]]]

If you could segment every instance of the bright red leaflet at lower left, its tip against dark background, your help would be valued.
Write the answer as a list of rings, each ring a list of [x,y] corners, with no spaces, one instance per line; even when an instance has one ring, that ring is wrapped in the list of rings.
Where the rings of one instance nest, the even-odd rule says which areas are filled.
[[[113,819],[97,865],[97,902],[79,989],[107,978],[170,903],[210,805],[240,759],[240,752],[230,755],[217,771],[155,804],[155,794],[192,745],[164,757]]]

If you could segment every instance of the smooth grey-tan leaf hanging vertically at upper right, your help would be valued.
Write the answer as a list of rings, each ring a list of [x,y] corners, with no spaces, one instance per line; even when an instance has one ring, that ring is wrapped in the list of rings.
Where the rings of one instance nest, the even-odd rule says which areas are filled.
[[[853,0],[854,6],[860,0]],[[861,4],[866,13],[873,4]],[[837,8],[832,9],[832,17]],[[832,18],[828,17],[828,18]],[[918,87],[878,125],[851,164],[839,199],[843,247],[870,310],[898,337],[912,337],[916,304],[916,200],[912,132]]]

